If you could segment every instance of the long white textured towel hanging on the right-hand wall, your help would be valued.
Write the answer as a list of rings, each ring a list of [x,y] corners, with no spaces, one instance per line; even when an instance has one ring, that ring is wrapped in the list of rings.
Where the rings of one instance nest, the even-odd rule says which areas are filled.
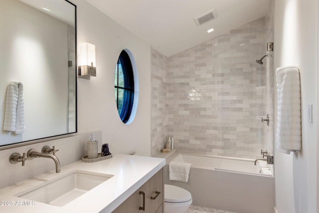
[[[278,91],[277,148],[290,154],[301,150],[301,89],[298,67],[276,69]]]

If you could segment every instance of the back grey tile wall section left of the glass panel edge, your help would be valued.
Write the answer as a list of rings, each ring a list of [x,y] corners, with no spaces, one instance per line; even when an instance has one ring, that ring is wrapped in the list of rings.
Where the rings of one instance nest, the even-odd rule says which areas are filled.
[[[216,139],[213,44],[211,39],[168,58],[168,136],[174,137],[180,150],[212,152]]]

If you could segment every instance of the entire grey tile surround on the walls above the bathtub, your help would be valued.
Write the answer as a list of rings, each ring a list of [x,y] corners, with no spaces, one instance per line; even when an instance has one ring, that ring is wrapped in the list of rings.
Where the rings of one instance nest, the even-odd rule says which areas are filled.
[[[161,135],[152,141],[152,155],[167,137],[174,137],[175,147],[184,152],[249,159],[260,158],[261,149],[272,152],[273,123],[268,127],[261,117],[273,118],[273,52],[263,65],[255,62],[272,41],[268,20],[255,20],[168,57],[166,76],[165,68],[155,65],[165,56],[152,50],[152,60],[157,60],[152,81],[158,82],[152,83],[152,94],[161,94],[161,106],[168,106],[152,102],[157,116],[152,134]]]

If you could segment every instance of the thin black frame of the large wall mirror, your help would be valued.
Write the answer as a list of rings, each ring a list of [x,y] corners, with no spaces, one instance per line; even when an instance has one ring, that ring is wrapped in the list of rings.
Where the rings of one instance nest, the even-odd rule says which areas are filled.
[[[34,140],[27,140],[27,141],[21,141],[21,142],[16,142],[16,143],[12,143],[12,144],[7,144],[7,145],[0,145],[0,151],[1,150],[6,150],[6,149],[12,149],[12,148],[16,148],[16,147],[22,147],[22,146],[26,146],[26,145],[30,145],[30,144],[37,144],[37,143],[42,143],[45,141],[52,141],[52,140],[56,140],[56,139],[61,139],[61,138],[68,138],[71,136],[76,135],[78,132],[78,111],[77,111],[77,6],[70,2],[69,0],[65,0],[66,2],[70,3],[71,5],[74,6],[74,27],[75,27],[75,132],[72,133],[65,133],[65,134],[61,134],[61,135],[55,135],[55,136],[48,136],[48,137],[44,137],[44,138],[38,138],[38,139],[34,139]]]

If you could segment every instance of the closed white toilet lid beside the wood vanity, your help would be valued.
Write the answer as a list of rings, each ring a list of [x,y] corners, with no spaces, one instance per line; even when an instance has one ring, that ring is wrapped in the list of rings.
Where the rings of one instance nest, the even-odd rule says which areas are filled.
[[[170,203],[181,203],[191,200],[191,194],[180,187],[164,185],[164,201]]]

